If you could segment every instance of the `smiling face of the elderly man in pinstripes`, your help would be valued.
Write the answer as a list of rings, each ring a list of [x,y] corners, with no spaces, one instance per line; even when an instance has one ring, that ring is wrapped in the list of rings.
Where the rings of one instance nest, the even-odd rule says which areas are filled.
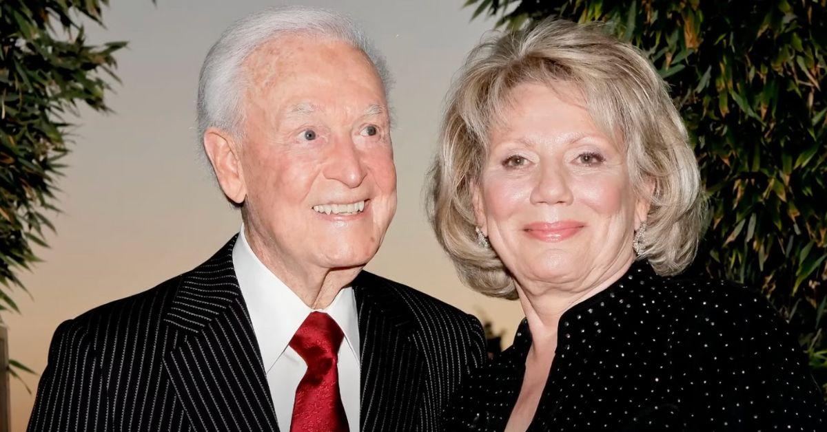
[[[282,36],[245,63],[248,232],[284,265],[364,265],[396,210],[385,88],[347,43]]]

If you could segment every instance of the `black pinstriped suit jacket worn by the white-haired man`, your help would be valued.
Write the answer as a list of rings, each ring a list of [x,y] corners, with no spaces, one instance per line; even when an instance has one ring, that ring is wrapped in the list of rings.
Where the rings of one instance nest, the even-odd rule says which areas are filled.
[[[278,430],[234,243],[188,273],[61,324],[29,430]],[[485,357],[480,322],[367,272],[352,286],[361,430],[438,430],[447,402]]]

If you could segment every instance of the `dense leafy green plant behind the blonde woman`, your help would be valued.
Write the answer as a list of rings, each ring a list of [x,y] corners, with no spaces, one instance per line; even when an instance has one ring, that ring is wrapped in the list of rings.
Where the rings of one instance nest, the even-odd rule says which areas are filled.
[[[827,395],[827,0],[468,0],[509,30],[607,21],[671,86],[710,194],[698,264],[762,287]]]

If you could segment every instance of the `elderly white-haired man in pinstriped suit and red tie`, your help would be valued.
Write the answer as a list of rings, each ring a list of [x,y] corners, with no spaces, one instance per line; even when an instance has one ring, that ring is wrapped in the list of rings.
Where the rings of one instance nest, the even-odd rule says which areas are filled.
[[[396,207],[381,60],[347,19],[238,21],[198,87],[241,232],[57,329],[29,430],[436,430],[484,358],[452,306],[362,271]]]

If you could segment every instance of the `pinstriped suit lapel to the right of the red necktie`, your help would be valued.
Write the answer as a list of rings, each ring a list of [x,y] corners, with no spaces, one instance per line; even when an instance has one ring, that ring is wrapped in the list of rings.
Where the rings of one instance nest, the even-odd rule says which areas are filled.
[[[415,430],[424,359],[414,343],[416,322],[380,279],[353,281],[361,335],[361,430]]]

